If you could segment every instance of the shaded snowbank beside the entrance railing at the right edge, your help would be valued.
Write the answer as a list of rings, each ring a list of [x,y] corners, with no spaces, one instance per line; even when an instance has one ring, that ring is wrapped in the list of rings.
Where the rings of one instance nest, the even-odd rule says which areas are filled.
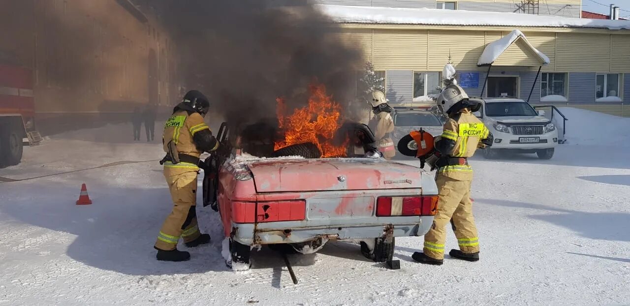
[[[566,139],[570,144],[626,147],[626,150],[630,147],[630,118],[578,108],[561,107],[558,109],[568,119]]]

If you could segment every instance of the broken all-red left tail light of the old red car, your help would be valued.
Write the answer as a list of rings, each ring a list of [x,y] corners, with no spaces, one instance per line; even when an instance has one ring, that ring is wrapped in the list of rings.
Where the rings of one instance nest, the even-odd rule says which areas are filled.
[[[232,202],[234,223],[298,221],[306,218],[306,201]]]

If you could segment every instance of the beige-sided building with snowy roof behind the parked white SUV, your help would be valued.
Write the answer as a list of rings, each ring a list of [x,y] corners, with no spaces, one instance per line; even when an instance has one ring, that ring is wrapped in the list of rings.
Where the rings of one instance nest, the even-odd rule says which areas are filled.
[[[345,40],[362,46],[365,59],[386,77],[386,95],[392,104],[410,104],[438,93],[440,74],[450,57],[459,83],[474,96],[510,96],[537,105],[570,105],[630,116],[630,21],[438,9],[320,8],[341,23]],[[513,30],[523,35],[508,43],[488,70],[480,60],[484,49]]]

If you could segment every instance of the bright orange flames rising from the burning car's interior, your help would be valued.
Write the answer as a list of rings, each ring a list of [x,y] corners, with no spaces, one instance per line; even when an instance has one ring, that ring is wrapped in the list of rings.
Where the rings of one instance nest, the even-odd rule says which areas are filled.
[[[333,145],[335,132],[341,127],[341,106],[332,96],[326,95],[323,84],[309,86],[309,105],[296,108],[286,116],[287,107],[283,98],[277,98],[276,115],[278,127],[284,130],[284,141],[275,142],[274,150],[293,144],[312,142],[319,147],[322,157],[345,157],[348,140],[342,145]]]

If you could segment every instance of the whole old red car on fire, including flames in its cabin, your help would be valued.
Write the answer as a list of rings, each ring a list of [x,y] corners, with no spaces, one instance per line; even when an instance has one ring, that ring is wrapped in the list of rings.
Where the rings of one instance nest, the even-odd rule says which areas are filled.
[[[204,179],[204,205],[221,214],[234,270],[249,268],[256,246],[309,254],[331,240],[358,242],[368,258],[388,261],[395,237],[424,235],[433,223],[432,177],[386,161],[366,125],[343,122],[323,88],[311,92],[292,115],[278,99],[278,118],[224,123],[217,134],[231,153],[206,161],[215,176]]]

